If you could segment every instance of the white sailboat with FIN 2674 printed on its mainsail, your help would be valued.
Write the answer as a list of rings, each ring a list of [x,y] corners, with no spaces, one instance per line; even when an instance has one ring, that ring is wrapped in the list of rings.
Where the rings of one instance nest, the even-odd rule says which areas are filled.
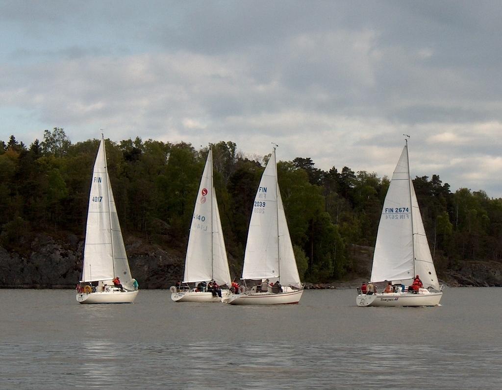
[[[359,293],[357,306],[437,306],[443,295],[410,178],[405,141],[384,201],[370,279],[371,283],[391,282],[395,292]],[[406,286],[416,275],[423,286],[412,291]]]

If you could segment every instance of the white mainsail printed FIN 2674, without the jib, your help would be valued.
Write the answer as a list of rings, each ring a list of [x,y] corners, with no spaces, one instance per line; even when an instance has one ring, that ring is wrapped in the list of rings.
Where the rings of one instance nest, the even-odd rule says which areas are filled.
[[[392,175],[376,235],[371,281],[413,278],[413,226],[408,149],[405,146]]]

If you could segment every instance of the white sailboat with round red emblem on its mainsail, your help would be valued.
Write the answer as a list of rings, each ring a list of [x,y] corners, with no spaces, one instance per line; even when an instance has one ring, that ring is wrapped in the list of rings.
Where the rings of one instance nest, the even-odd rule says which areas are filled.
[[[218,202],[213,185],[213,153],[209,149],[206,165],[200,180],[199,192],[195,201],[183,283],[215,281],[218,285],[230,286],[230,271],[226,257],[225,242],[221,230]],[[220,302],[221,298],[204,287],[183,289],[182,286],[170,288],[171,299],[175,302]],[[202,285],[201,285],[202,286]],[[229,294],[221,289],[222,296]]]

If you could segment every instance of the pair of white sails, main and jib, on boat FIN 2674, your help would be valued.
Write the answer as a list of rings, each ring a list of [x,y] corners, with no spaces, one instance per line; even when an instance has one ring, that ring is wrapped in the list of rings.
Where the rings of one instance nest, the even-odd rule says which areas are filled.
[[[384,201],[376,236],[371,281],[409,283],[418,274],[424,287],[439,290],[420,209],[410,178],[408,145],[403,148]]]

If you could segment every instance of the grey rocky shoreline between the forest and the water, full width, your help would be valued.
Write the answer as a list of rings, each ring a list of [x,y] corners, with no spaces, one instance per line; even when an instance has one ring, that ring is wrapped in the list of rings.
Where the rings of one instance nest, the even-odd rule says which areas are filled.
[[[68,289],[80,278],[83,240],[72,234],[54,238],[38,234],[22,253],[0,246],[0,288]],[[184,254],[170,248],[126,239],[131,272],[140,289],[168,289],[183,274]],[[344,281],[306,283],[307,290],[355,289],[367,280],[371,267],[371,247],[354,246],[353,276]],[[230,263],[231,259],[230,259]],[[232,269],[233,274],[237,271]],[[438,275],[440,283],[450,287],[502,287],[502,263],[462,262],[455,270]]]

